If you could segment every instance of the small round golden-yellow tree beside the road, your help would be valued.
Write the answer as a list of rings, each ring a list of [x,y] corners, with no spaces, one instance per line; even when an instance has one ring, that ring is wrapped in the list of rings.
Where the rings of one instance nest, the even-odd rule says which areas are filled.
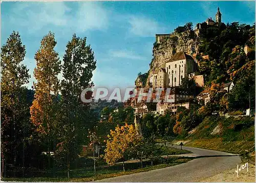
[[[113,165],[117,161],[122,160],[124,171],[124,161],[128,158],[136,157],[140,141],[140,136],[133,124],[117,125],[115,131],[111,130],[108,140],[106,140],[104,156],[106,163]]]

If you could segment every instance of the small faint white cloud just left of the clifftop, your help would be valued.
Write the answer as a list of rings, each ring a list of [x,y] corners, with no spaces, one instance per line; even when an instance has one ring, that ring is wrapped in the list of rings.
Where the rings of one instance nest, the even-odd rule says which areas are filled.
[[[155,34],[165,31],[165,28],[155,20],[144,16],[131,16],[129,24],[131,25],[130,32],[141,37],[155,37]]]

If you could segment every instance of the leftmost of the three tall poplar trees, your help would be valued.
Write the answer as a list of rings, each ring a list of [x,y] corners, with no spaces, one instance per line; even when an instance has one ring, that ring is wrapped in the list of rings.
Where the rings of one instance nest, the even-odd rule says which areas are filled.
[[[16,165],[19,146],[24,145],[26,126],[26,88],[30,75],[22,64],[26,55],[18,32],[13,31],[1,52],[1,148],[2,170],[4,161]],[[28,122],[28,121],[27,121]],[[24,146],[23,146],[24,147]],[[24,159],[24,154],[23,154]]]

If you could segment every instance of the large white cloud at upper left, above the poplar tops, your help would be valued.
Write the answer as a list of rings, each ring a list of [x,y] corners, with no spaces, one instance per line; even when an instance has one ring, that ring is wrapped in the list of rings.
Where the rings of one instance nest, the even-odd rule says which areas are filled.
[[[79,2],[78,9],[72,9],[65,2],[19,2],[12,10],[11,24],[25,27],[35,33],[49,26],[83,32],[105,30],[109,25],[109,14],[97,2]],[[72,15],[71,15],[72,14]]]

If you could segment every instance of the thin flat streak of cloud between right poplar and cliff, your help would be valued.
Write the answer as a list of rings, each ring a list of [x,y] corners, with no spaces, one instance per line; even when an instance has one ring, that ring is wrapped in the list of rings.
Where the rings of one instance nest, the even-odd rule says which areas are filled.
[[[145,57],[136,55],[136,53],[126,50],[110,51],[110,56],[115,58],[125,58],[132,60],[145,60]]]

